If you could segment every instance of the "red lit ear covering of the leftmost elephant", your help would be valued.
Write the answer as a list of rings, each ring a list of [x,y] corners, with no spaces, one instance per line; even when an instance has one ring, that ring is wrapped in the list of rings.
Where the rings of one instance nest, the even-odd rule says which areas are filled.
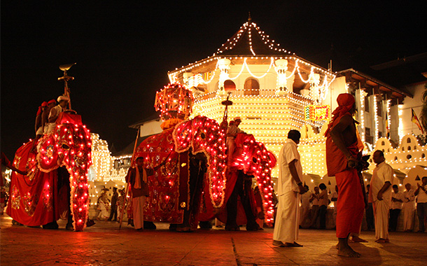
[[[40,148],[37,155],[38,166],[42,172],[50,172],[59,167],[58,165],[58,153],[57,144],[53,134],[48,137],[43,137],[40,140]]]

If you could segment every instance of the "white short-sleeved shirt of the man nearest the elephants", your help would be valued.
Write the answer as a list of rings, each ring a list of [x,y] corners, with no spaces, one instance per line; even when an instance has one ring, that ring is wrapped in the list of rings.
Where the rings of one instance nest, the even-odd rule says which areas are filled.
[[[280,149],[279,153],[279,180],[277,182],[277,195],[283,195],[289,191],[299,192],[297,182],[292,178],[289,171],[289,163],[295,161],[295,168],[297,169],[298,177],[302,180],[302,166],[300,153],[297,150],[297,144],[292,139],[286,139],[285,144]]]

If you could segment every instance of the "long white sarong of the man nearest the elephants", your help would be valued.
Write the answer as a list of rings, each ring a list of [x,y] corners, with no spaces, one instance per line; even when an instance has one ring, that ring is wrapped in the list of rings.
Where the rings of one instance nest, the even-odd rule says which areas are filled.
[[[278,199],[273,240],[293,243],[298,239],[301,195],[295,191],[289,191],[280,195]]]

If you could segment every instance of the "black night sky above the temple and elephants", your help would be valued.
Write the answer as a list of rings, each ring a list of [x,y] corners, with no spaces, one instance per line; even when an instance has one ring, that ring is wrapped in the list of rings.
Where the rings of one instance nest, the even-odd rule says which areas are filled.
[[[120,151],[167,71],[211,56],[248,12],[282,48],[325,68],[332,57],[333,71],[427,50],[426,1],[144,2],[1,1],[1,151],[12,159],[34,138],[38,106],[64,92],[58,66],[73,62],[73,109]]]

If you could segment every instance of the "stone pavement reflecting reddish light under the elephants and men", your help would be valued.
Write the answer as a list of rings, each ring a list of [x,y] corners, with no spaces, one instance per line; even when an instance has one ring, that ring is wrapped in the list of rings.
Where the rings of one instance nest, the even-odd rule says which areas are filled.
[[[337,256],[335,231],[301,230],[302,248],[272,246],[272,229],[228,232],[198,230],[136,232],[118,223],[97,221],[84,232],[12,225],[1,216],[1,260],[6,265],[427,265],[427,234],[391,232],[391,243],[377,244],[374,232],[362,232],[368,243],[351,244],[361,258]]]

